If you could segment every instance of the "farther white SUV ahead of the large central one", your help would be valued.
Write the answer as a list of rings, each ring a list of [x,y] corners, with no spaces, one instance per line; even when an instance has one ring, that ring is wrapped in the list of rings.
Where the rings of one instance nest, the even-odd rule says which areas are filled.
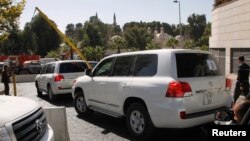
[[[53,101],[55,95],[71,93],[73,81],[83,76],[87,68],[86,62],[81,60],[47,63],[35,79],[38,96],[42,96],[42,92],[47,92],[49,99]]]

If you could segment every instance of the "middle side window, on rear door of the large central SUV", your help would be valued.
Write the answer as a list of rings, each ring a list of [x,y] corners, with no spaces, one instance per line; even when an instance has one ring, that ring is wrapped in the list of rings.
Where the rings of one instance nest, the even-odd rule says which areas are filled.
[[[131,63],[131,56],[118,57],[115,61],[113,76],[127,76]]]

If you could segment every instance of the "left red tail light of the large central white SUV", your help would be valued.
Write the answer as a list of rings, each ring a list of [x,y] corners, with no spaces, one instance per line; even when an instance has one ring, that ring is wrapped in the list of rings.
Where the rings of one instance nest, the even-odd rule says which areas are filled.
[[[166,97],[184,97],[192,94],[190,85],[187,82],[170,82]]]

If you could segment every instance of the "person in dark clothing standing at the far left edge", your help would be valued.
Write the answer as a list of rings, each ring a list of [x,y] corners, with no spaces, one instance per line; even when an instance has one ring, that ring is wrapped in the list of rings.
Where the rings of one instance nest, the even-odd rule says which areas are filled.
[[[4,65],[3,70],[2,70],[2,83],[4,84],[4,93],[5,93],[5,95],[9,95],[10,76],[11,76],[11,74],[8,73],[7,66]]]

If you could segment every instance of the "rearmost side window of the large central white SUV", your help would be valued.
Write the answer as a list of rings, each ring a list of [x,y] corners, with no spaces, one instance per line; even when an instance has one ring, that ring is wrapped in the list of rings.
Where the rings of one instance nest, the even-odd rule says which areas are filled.
[[[134,76],[153,76],[157,72],[158,57],[155,54],[138,55]]]

